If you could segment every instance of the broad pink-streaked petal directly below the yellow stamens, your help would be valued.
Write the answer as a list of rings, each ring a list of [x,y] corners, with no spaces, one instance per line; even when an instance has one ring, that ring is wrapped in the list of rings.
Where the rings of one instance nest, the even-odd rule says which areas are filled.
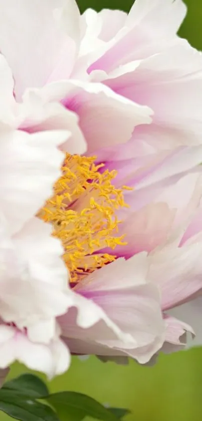
[[[78,284],[76,291],[86,297],[89,306],[92,303],[105,314],[105,319],[98,321],[88,329],[76,326],[77,312],[70,312],[59,319],[63,336],[67,343],[75,340],[82,345],[88,338],[87,348],[71,351],[75,353],[94,353],[98,355],[133,355],[139,362],[148,361],[163,342],[164,324],[159,307],[157,289],[145,283],[146,256],[135,256],[127,261],[118,259],[114,263],[94,272],[86,282]],[[86,303],[87,306],[87,303]],[[90,317],[90,316],[89,316]],[[106,320],[108,319],[108,324]],[[116,330],[125,333],[125,340],[115,337]],[[78,322],[77,322],[78,323]],[[92,345],[92,347],[91,347]],[[71,345],[70,345],[71,348]],[[91,349],[92,348],[92,349]]]

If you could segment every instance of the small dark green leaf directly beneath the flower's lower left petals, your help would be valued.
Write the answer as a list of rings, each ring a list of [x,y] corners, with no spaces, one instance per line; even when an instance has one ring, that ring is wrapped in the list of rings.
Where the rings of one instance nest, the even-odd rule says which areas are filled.
[[[46,384],[33,374],[23,374],[8,381],[4,384],[3,389],[19,390],[36,398],[49,394]]]

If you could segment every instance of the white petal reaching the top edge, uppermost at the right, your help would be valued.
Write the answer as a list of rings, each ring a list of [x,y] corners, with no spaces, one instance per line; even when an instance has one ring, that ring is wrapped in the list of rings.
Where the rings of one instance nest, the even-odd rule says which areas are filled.
[[[138,0],[116,36],[91,61],[88,73],[104,70],[107,73],[132,60],[145,59],[164,51],[185,16],[181,0]],[[98,50],[99,53],[99,50]]]

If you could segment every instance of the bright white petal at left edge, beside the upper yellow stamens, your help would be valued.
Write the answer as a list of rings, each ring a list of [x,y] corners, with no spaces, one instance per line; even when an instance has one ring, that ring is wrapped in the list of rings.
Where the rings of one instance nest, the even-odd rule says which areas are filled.
[[[68,136],[66,130],[1,131],[0,210],[10,232],[19,231],[52,196],[64,159],[57,147]]]

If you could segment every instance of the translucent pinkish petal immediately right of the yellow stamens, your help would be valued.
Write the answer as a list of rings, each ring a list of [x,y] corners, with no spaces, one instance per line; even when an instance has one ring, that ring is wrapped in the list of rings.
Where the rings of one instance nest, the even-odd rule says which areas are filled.
[[[127,244],[116,246],[113,253],[116,256],[130,257],[143,250],[151,251],[163,244],[176,227],[183,223],[189,223],[190,218],[196,212],[202,194],[201,182],[200,173],[190,173],[175,184],[162,188],[156,197],[156,189],[152,186],[150,194],[153,190],[154,201],[150,201],[136,212],[134,212],[136,204],[141,205],[141,200],[138,199],[144,197],[144,189],[142,196],[138,195],[138,191],[135,189],[125,195],[126,203],[129,203],[130,206],[117,211],[118,218],[122,220],[117,236],[125,235],[124,241]],[[148,201],[149,199],[151,200],[148,195]],[[197,221],[199,223],[198,217]],[[191,225],[189,229],[192,229]],[[188,234],[185,233],[185,235]],[[182,241],[184,242],[183,238],[180,244]],[[104,249],[104,251],[112,252],[110,249]]]

